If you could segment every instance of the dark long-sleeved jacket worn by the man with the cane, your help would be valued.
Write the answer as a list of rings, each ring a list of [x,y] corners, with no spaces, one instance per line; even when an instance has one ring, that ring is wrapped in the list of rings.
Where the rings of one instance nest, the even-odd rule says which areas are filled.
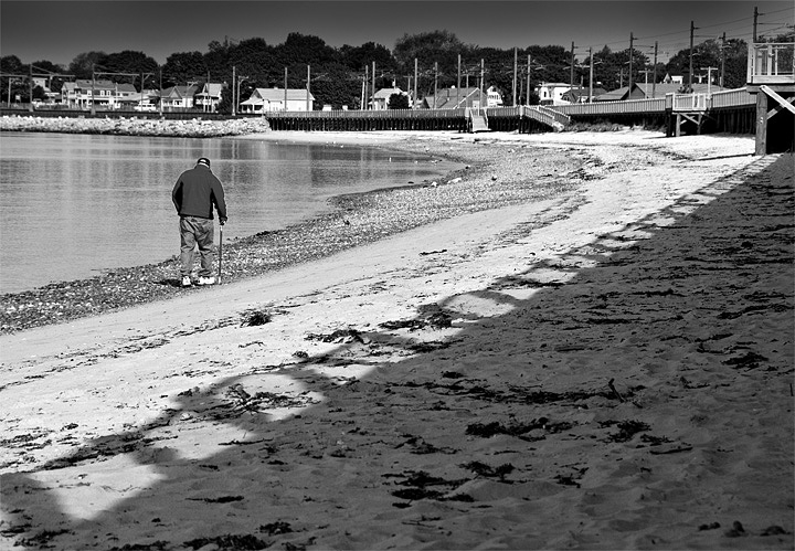
[[[226,222],[223,187],[209,168],[198,165],[182,172],[171,191],[171,200],[180,216],[213,219],[213,204],[219,219]]]

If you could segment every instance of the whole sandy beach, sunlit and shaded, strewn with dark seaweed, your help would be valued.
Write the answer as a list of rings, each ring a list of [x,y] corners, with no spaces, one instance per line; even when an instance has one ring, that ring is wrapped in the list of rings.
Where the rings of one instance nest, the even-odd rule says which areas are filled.
[[[791,153],[240,139],[471,167],[342,203],[324,236],[383,235],[333,254],[1,335],[0,547],[793,549]]]

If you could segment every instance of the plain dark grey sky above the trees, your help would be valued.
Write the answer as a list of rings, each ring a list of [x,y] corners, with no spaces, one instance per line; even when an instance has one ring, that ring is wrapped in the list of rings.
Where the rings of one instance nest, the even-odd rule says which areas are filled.
[[[695,43],[751,41],[757,32],[780,34],[792,25],[795,4],[748,0],[2,0],[0,55],[22,63],[68,63],[81,53],[144,52],[159,64],[178,52],[206,52],[212,41],[262,38],[280,44],[290,32],[327,44],[390,50],[404,34],[453,32],[465,44],[499,49],[575,45],[613,51],[634,46],[659,61]]]

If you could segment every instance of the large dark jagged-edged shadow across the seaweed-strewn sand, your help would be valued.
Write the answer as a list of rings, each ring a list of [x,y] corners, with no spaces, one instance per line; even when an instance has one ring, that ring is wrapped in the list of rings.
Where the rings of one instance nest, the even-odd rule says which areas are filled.
[[[423,353],[380,363],[374,343],[396,332],[362,330],[3,475],[3,534],[52,549],[792,548],[793,181],[774,186],[772,159],[792,162],[756,160],[438,303],[467,322]],[[467,300],[508,312],[471,319]],[[340,382],[316,369],[330,364],[373,369]],[[269,377],[310,392],[255,392]],[[174,433],[226,439],[191,457]],[[146,480],[121,500],[129,488],[103,486],[119,469]],[[82,510],[61,478],[84,480]]]

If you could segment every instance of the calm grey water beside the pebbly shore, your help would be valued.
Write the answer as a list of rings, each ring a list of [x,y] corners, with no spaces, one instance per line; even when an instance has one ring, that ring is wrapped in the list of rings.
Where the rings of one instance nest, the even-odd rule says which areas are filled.
[[[316,216],[332,195],[457,168],[374,148],[234,138],[3,133],[0,146],[0,293],[178,254],[171,189],[199,157],[224,184],[225,242]]]

